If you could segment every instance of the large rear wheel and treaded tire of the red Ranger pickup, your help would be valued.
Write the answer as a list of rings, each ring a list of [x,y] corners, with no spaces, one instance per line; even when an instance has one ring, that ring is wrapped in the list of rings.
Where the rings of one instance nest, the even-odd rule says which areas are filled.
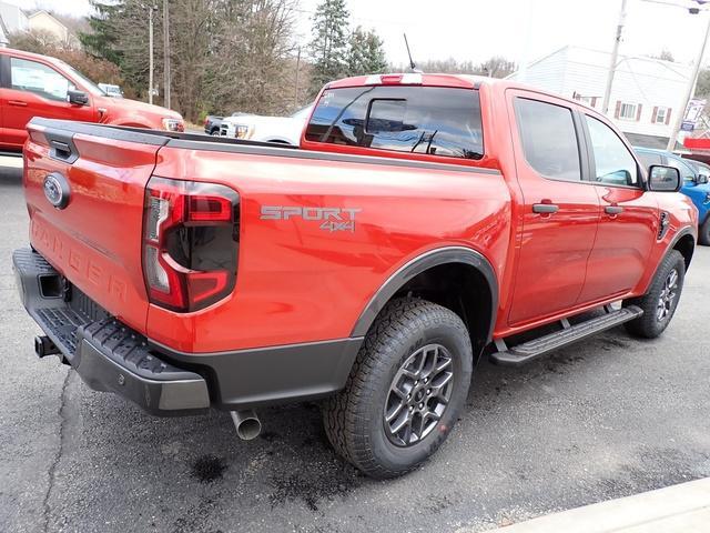
[[[456,313],[396,300],[365,338],[345,389],[324,404],[328,439],[372,477],[405,474],[446,440],[471,372],[470,338]]]

